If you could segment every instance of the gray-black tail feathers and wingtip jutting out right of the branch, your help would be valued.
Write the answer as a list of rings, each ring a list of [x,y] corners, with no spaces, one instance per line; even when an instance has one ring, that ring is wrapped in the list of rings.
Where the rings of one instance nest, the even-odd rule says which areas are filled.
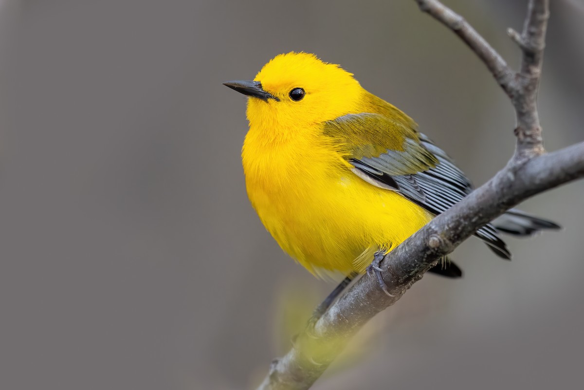
[[[499,232],[525,237],[544,229],[557,230],[561,227],[555,222],[511,208],[505,211],[505,214],[495,218],[490,224],[480,228],[475,236],[485,242],[497,256],[510,260],[511,252],[507,249],[505,241],[499,237]]]

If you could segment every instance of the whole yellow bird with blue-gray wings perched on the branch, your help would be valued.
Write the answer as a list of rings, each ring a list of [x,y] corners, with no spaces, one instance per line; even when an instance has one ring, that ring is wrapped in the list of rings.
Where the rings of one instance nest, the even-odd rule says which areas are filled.
[[[312,274],[345,276],[339,287],[373,270],[387,293],[383,256],[473,190],[411,117],[315,54],[277,55],[252,81],[224,85],[248,96],[242,165],[253,208]],[[559,228],[511,209],[475,236],[510,259],[500,234]],[[462,276],[450,259],[430,271]]]

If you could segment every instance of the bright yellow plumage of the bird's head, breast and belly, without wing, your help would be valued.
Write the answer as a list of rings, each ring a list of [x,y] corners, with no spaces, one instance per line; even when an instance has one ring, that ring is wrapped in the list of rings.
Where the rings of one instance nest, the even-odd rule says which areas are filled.
[[[348,113],[394,112],[413,131],[409,117],[366,92],[351,74],[310,54],[280,55],[255,79],[274,96],[285,97],[298,86],[309,94],[300,102],[249,99],[242,150],[253,207],[281,248],[304,267],[315,274],[363,272],[376,250],[398,245],[432,218],[394,191],[356,176],[343,149],[322,134],[325,121]],[[381,136],[376,145],[393,148],[404,139]]]

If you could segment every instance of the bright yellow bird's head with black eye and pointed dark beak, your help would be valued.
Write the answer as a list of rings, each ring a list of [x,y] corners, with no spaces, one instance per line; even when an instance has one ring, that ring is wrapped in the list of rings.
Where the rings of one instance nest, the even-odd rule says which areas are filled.
[[[359,112],[363,89],[339,65],[314,54],[280,54],[253,81],[231,81],[228,87],[250,96],[250,124],[310,126]]]

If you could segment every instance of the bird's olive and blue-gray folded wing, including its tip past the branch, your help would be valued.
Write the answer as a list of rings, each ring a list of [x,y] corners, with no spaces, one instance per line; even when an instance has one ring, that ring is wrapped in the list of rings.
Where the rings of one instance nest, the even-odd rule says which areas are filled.
[[[396,136],[397,134],[397,136]],[[411,123],[374,113],[348,114],[324,124],[361,179],[402,196],[438,215],[472,191],[454,161]],[[510,252],[487,224],[475,234],[498,256]]]

